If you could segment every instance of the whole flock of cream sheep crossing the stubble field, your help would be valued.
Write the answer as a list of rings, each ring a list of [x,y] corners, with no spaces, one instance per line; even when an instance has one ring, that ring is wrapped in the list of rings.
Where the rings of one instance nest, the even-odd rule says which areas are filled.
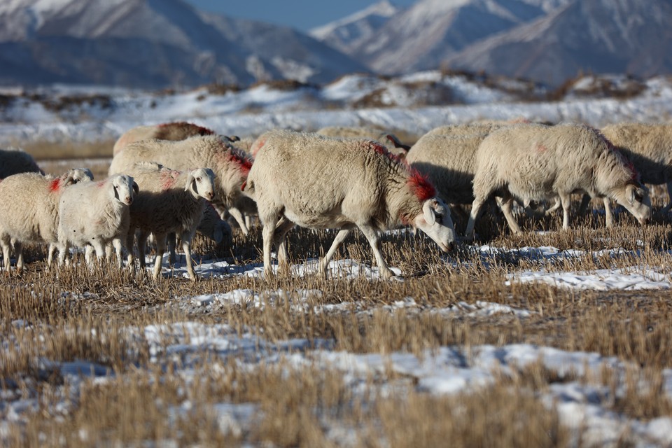
[[[197,231],[222,241],[227,218],[247,234],[253,216],[262,224],[263,260],[272,274],[288,269],[286,233],[295,225],[339,230],[319,268],[349,232],[369,242],[383,278],[393,276],[381,254],[381,232],[410,225],[451,251],[451,219],[470,204],[465,239],[486,203],[498,201],[512,232],[519,232],[512,207],[562,207],[570,225],[570,195],[600,198],[606,224],[613,225],[610,200],[646,223],[651,203],[644,183],[666,183],[672,203],[672,125],[620,124],[602,130],[562,123],[483,123],[438,127],[413,146],[369,128],[330,127],[314,133],[272,130],[255,140],[217,135],[190,123],[141,126],[113,148],[109,177],[93,181],[88,169],[46,176],[26,153],[0,151],[0,246],[10,271],[13,246],[17,270],[22,244],[49,245],[48,265],[71,246],[85,260],[126,253],[145,265],[153,235],[153,276],[160,276],[167,244],[174,262],[176,239],[186,254],[190,279],[197,278],[190,244]],[[587,200],[584,201],[587,204]],[[662,210],[666,213],[671,204]],[[465,214],[464,212],[462,212]],[[466,216],[464,216],[466,218]],[[134,240],[137,237],[137,252]]]

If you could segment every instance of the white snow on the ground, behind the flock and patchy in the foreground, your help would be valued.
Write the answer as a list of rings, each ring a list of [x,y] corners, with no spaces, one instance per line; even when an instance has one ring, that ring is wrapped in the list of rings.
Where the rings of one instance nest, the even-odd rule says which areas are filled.
[[[419,73],[410,81],[435,79],[436,73]],[[319,94],[300,91],[269,90],[267,86],[255,87],[243,92],[228,92],[222,95],[209,94],[204,90],[159,96],[146,92],[108,91],[113,97],[113,106],[92,104],[85,108],[66,109],[56,113],[45,109],[40,102],[20,97],[10,106],[0,110],[0,143],[8,141],[97,141],[116,139],[119,134],[139,124],[162,123],[172,120],[188,120],[211,127],[226,134],[241,137],[260,134],[271,127],[290,127],[313,130],[325,125],[379,125],[387,128],[406,130],[422,134],[437,125],[465,123],[471,120],[528,118],[531,120],[575,120],[603,125],[621,120],[659,121],[672,116],[672,80],[654,78],[648,80],[647,89],[638,97],[630,99],[582,99],[575,97],[563,102],[512,102],[504,92],[467,83],[455,79],[452,83],[454,94],[461,97],[463,104],[453,106],[416,107],[409,99],[407,90],[395,90],[381,85],[377,79],[349,76],[342,78]],[[311,109],[311,104],[343,102],[351,104],[364,94],[384,88],[382,98],[388,98],[396,106],[375,109]],[[79,92],[79,91],[78,91]],[[95,89],[92,92],[99,92]],[[6,92],[7,93],[7,92]],[[9,92],[10,93],[10,92]],[[74,94],[72,89],[56,87],[43,94]],[[91,92],[89,92],[91,93]],[[387,95],[387,96],[386,96]],[[316,97],[319,101],[317,101]],[[525,269],[509,275],[509,284],[521,282],[544,282],[553,286],[582,289],[668,289],[672,284],[672,269],[666,266],[649,266],[639,260],[637,253],[615,248],[609,253],[587,254],[582,251],[560,251],[553,247],[524,247],[517,249],[475,246],[487,265],[489,258],[507,253],[511,256],[538,262],[538,269]],[[563,264],[557,260],[583,256],[626,257],[631,266],[624,269],[605,268],[592,272],[562,270]],[[452,262],[448,259],[446,262]],[[292,267],[296,276],[314,272],[316,260],[307,260]],[[531,263],[533,265],[533,263]],[[187,277],[182,264],[168,268],[164,264],[165,276]],[[669,265],[667,265],[669,266]],[[263,276],[261,265],[232,265],[223,260],[200,260],[195,267],[202,277],[227,278],[229,276]],[[401,274],[398,267],[392,267]],[[342,259],[330,264],[332,274],[353,279],[364,276],[370,281],[381,281],[377,268],[361,265],[355,260]],[[393,281],[403,281],[402,277]],[[370,312],[357,302],[345,304],[321,304],[319,290],[266,290],[249,289],[223,290],[208,295],[178,297],[174,304],[188,308],[190,312],[207,313],[214,307],[238,304],[264,309],[279,300],[288,300],[293,309],[304,311],[313,307],[316,313],[334,311]],[[504,304],[459,302],[451,307],[427,309],[416,302],[419,297],[386,305],[382,309],[394,313],[403,309],[407,313],[430,311],[440,314],[456,314],[479,318],[505,314],[524,320],[537,311],[516,309]],[[30,325],[15,321],[13,325]],[[605,358],[597,353],[570,353],[545,346],[531,345],[480,345],[470,347],[443,346],[428,351],[419,358],[409,353],[356,354],[335,351],[334,341],[322,340],[309,343],[303,339],[269,342],[260,337],[260,332],[249,328],[239,336],[237,330],[228,325],[206,325],[183,322],[171,325],[148,325],[145,328],[128,328],[128,332],[144,337],[152,355],[152,363],[165,363],[170,356],[179,356],[183,363],[175,366],[180,374],[189,378],[195,375],[195,365],[204,351],[221,358],[235,356],[249,368],[285,362],[296,369],[309,366],[320,369],[332,368],[344,373],[354,391],[361,390],[368,377],[374,375],[382,386],[393,385],[395,379],[386,375],[390,372],[412,377],[418,391],[430,394],[470,391],[491,384],[493,372],[514,372],[528,363],[541,361],[545,367],[561,376],[568,372],[598,371],[609,368],[616,374],[624,374],[629,367],[617,358]],[[4,341],[3,347],[11,342]],[[1,359],[1,357],[0,357]],[[61,370],[67,384],[78,388],[82,381],[104,382],[112,373],[86,360],[77,363],[54,363],[42,360],[44,365]],[[672,398],[672,371],[664,371],[664,392]],[[623,393],[616,391],[615,393]],[[0,440],[10,423],[21,421],[27,412],[39,408],[38,398],[17,400],[14,395],[0,391]],[[582,442],[591,444],[617,444],[624,433],[633,436],[639,446],[670,446],[672,444],[672,419],[661,418],[643,422],[616,414],[607,409],[607,403],[614,397],[612,391],[580,381],[567,381],[549,386],[544,402],[558,409],[563,423],[576,430],[586,429]],[[64,404],[65,406],[65,404]],[[247,428],[252,424],[257,409],[253,404],[222,402],[215,406],[221,414],[223,427]],[[337,442],[335,440],[335,442]]]

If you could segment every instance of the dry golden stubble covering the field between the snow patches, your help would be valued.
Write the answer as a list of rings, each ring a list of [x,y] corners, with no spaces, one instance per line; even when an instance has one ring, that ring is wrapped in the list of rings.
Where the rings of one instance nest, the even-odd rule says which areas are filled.
[[[41,164],[61,172],[73,161]],[[104,176],[99,161],[96,176]],[[658,190],[654,189],[654,192]],[[661,198],[654,204],[660,207]],[[178,446],[332,446],[339,442],[362,447],[535,446],[581,444],[553,407],[541,397],[551,384],[591,382],[612,391],[610,408],[633,419],[672,416],[663,393],[662,372],[672,367],[672,291],[577,291],[542,283],[505,285],[507,275],[524,269],[591,272],[633,265],[667,267],[672,255],[670,225],[659,219],[640,228],[626,213],[619,225],[603,228],[603,217],[578,221],[575,230],[558,230],[561,218],[527,218],[528,228],[553,230],[511,236],[502,223],[483,221],[477,234],[496,247],[554,246],[588,251],[556,260],[516,253],[483,256],[468,246],[442,256],[425,237],[409,233],[384,241],[384,256],[399,267],[404,281],[365,278],[322,279],[315,276],[258,279],[165,278],[157,283],[146,272],[118,272],[97,266],[92,272],[76,263],[45,269],[45,250],[27,253],[22,276],[4,276],[0,285],[0,440],[9,446],[153,446],[175,441]],[[289,251],[295,262],[318,256],[330,242],[326,232],[290,232]],[[370,262],[365,239],[349,239],[339,258]],[[260,229],[235,234],[228,253],[217,253],[204,239],[193,246],[201,256],[260,262]],[[624,248],[638,251],[621,257],[593,256],[590,251]],[[184,297],[248,288],[281,289],[283,300],[263,308],[186,304]],[[298,290],[320,290],[304,311],[291,307]],[[413,297],[417,306],[391,311],[385,305]],[[528,317],[508,314],[467,316],[436,309],[479,300],[533,311]],[[350,304],[318,312],[325,304]],[[454,395],[430,395],[414,387],[413,377],[387,372],[369,377],[358,387],[339,370],[297,368],[279,360],[255,369],[241,367],[204,349],[185,375],[176,367],[190,359],[150,353],[138,331],[148,325],[195,321],[228,324],[238,335],[252,332],[270,342],[307,339],[332,341],[335,351],[423,356],[427,349],[458,346],[469,353],[479,344],[527,343],[568,351],[595,351],[630,363],[625,376],[605,369],[582,375],[561,375],[542,365],[502,374],[493,384]],[[165,342],[166,344],[169,341]],[[291,351],[288,353],[290,354]],[[195,356],[195,355],[194,355]],[[86,360],[113,376],[106,381],[84,377],[77,387],[58,363]],[[643,381],[645,380],[645,381]],[[381,387],[383,382],[390,388]],[[365,393],[361,391],[365,390]],[[357,391],[357,392],[356,392]],[[617,393],[616,391],[624,391]],[[12,420],[2,402],[38,399],[34,412]],[[223,421],[218,403],[246,406],[251,423]],[[218,416],[220,415],[220,416]],[[352,430],[356,428],[356,432]],[[629,444],[630,435],[622,435]]]

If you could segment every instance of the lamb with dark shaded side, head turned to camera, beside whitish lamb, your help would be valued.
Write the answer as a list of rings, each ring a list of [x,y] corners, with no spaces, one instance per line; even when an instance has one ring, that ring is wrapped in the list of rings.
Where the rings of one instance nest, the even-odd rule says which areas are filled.
[[[154,279],[161,273],[167,236],[175,232],[182,241],[189,278],[196,280],[191,259],[191,240],[203,216],[206,201],[214,199],[214,173],[209,168],[180,172],[157,163],[140,162],[127,170],[140,192],[130,206],[130,226],[126,239],[128,264],[133,262],[133,239],[139,229],[138,254],[145,267],[145,242],[150,233],[156,241]]]

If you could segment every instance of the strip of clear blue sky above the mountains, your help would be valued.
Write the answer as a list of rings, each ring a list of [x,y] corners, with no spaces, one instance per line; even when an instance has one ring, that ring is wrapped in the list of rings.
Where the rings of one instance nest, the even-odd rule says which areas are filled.
[[[300,31],[324,25],[362,10],[379,0],[186,0],[200,10],[285,25]],[[391,0],[409,6],[415,0]]]

